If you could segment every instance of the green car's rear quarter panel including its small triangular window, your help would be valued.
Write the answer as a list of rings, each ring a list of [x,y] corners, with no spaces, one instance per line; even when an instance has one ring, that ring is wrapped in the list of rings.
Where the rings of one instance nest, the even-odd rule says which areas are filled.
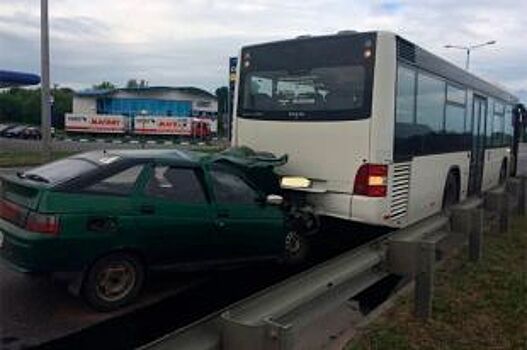
[[[51,256],[62,269],[80,269],[121,249],[141,249],[134,198],[144,165],[119,168],[70,191],[48,191],[39,210],[60,216]]]

